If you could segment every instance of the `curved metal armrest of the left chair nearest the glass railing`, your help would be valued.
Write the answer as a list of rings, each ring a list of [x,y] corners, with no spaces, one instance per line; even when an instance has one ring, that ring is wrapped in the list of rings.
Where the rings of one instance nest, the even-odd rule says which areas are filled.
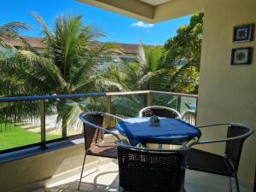
[[[79,114],[79,119],[81,119],[84,124],[90,125],[90,126],[96,128],[96,129],[99,129],[99,130],[104,131],[105,133],[111,134],[111,135],[113,135],[114,137],[116,137],[116,138],[119,140],[120,137],[119,137],[119,135],[118,135],[117,133],[115,133],[115,132],[113,132],[113,131],[109,131],[109,130],[103,128],[102,126],[99,126],[99,125],[95,125],[95,124],[93,124],[93,123],[90,123],[89,121],[87,121],[86,119],[84,119],[84,115],[86,115],[86,114],[93,114],[93,113],[98,113],[98,114],[102,114],[102,115],[108,115],[108,116],[110,116],[110,117],[113,117],[113,118],[116,118],[116,119],[120,119],[120,120],[122,120],[122,118],[119,118],[118,116],[115,116],[115,115],[113,115],[113,114],[103,113],[103,112],[83,112],[83,113],[80,113],[80,114]]]

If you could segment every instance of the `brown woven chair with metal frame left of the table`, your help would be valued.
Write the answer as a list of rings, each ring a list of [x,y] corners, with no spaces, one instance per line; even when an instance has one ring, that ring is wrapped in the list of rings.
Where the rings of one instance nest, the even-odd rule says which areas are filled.
[[[79,180],[79,189],[84,172],[84,164],[87,155],[117,159],[117,148],[112,141],[104,141],[104,133],[108,133],[119,139],[119,135],[110,129],[114,128],[120,120],[119,117],[102,112],[84,112],[79,114],[79,119],[84,125],[85,154],[82,172]]]

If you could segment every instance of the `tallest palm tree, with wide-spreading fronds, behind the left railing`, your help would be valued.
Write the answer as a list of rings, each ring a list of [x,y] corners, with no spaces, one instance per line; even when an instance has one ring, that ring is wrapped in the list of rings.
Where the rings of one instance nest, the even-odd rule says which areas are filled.
[[[44,57],[29,50],[18,50],[14,57],[0,60],[0,75],[3,76],[0,79],[0,95],[59,95],[123,90],[120,84],[96,73],[99,59],[116,48],[114,44],[91,46],[90,40],[102,34],[92,32],[90,26],[84,26],[82,15],[58,16],[53,32],[49,31],[43,18],[36,14],[33,16],[43,28],[46,45]],[[84,100],[71,98],[49,103],[56,106],[63,137],[67,136],[67,126],[78,125],[78,114],[87,107]]]

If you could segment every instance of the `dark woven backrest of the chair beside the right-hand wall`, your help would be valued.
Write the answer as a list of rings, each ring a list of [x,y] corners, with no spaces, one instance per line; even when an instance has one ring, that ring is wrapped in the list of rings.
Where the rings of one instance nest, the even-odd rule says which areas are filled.
[[[241,157],[241,148],[244,141],[250,136],[247,135],[249,131],[250,128],[241,124],[230,124],[228,128],[227,137],[239,137],[241,135],[245,135],[245,137],[241,137],[240,139],[234,139],[226,142],[225,154],[236,172],[238,170]]]

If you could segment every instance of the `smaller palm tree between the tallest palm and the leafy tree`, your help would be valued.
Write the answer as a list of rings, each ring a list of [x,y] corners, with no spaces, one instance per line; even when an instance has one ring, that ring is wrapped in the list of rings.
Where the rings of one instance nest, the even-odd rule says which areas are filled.
[[[161,84],[175,67],[163,66],[164,49],[161,46],[140,44],[137,50],[137,61],[122,62],[119,67],[110,65],[104,74],[108,79],[122,84],[128,90],[161,90]],[[172,70],[171,70],[172,69]],[[127,116],[137,115],[145,107],[145,96],[113,97],[113,112]]]

